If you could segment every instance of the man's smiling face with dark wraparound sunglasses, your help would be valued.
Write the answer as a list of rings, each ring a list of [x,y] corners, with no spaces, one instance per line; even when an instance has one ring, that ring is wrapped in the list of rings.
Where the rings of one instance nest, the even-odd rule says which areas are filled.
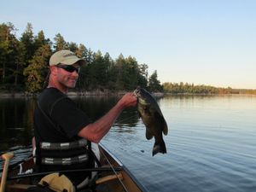
[[[56,66],[57,80],[60,84],[67,88],[74,88],[79,78],[79,64],[75,63],[71,66],[60,65]],[[76,70],[75,70],[76,69]]]

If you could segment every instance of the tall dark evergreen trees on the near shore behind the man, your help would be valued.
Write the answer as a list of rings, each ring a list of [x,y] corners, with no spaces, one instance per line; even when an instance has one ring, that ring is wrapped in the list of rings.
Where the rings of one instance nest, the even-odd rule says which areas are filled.
[[[31,23],[20,38],[15,32],[12,23],[0,24],[0,90],[41,91],[47,83],[49,57],[61,49],[70,49],[87,61],[80,69],[77,90],[135,90],[137,86],[163,90],[157,71],[148,76],[148,65],[139,64],[131,55],[120,54],[113,60],[108,53],[67,42],[60,33],[51,41],[43,30],[34,35]]]

